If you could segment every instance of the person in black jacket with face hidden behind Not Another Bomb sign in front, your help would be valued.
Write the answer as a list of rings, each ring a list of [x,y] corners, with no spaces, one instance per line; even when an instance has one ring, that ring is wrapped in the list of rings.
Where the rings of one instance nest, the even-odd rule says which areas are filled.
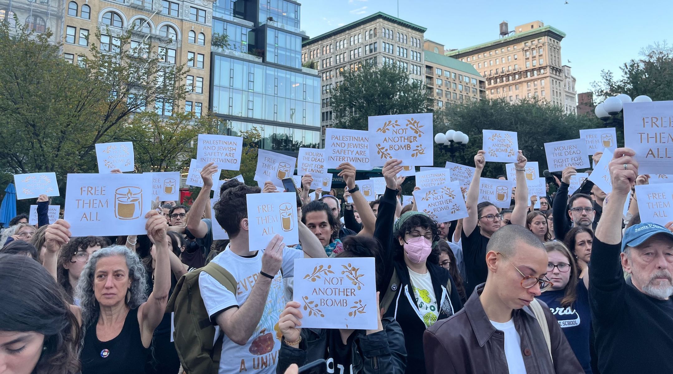
[[[343,241],[344,252],[336,257],[380,258],[380,246],[371,237],[349,236]],[[382,277],[382,262],[376,262],[376,283]],[[301,328],[301,305],[289,301],[279,319],[283,334],[276,373],[285,373],[291,364],[300,367],[326,359],[334,373],[402,374],[406,368],[406,348],[400,324],[379,314],[378,329]],[[339,371],[336,369],[339,368]]]

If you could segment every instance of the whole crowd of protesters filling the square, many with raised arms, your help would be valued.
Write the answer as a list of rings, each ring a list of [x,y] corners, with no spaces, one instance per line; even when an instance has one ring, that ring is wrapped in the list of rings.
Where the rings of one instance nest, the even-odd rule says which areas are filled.
[[[223,182],[211,217],[212,163],[190,207],[153,203],[145,235],[72,237],[40,196],[36,226],[2,233],[0,373],[673,373],[673,222],[640,221],[633,151],[594,155],[612,157],[607,196],[570,191],[573,167],[529,196],[519,151],[511,209],[479,201],[484,155],[449,222],[402,204],[402,161],[373,202],[349,163],[341,196],[306,174],[295,246],[249,235],[246,198],[271,182]],[[345,257],[376,259],[378,328],[302,328],[294,260]]]

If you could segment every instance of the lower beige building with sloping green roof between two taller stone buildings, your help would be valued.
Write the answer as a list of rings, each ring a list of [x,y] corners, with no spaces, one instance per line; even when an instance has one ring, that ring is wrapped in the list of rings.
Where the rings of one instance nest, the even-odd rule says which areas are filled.
[[[486,97],[486,80],[472,65],[444,56],[444,44],[425,40],[423,48],[425,85],[435,109]]]

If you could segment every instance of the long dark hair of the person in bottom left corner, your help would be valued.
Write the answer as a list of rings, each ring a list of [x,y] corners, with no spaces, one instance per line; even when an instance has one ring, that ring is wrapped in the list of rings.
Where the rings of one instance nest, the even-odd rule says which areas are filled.
[[[81,328],[53,276],[26,256],[3,254],[0,285],[0,331],[44,335],[44,352],[32,373],[79,373]]]

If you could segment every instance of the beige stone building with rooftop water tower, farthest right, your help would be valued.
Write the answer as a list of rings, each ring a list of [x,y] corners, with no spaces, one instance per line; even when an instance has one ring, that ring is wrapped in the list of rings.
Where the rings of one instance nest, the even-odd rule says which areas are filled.
[[[566,109],[563,38],[565,33],[561,30],[535,21],[516,26],[513,32],[497,40],[450,50],[446,55],[479,71],[486,79],[489,98],[516,102],[538,96],[571,113],[574,110]]]

